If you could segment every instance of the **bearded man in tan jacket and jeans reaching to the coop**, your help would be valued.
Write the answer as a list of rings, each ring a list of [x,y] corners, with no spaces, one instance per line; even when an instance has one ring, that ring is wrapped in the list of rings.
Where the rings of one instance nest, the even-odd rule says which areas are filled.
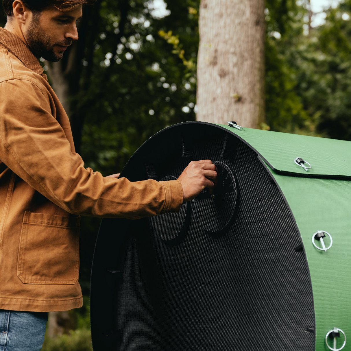
[[[92,0],[3,0],[0,28],[0,350],[38,351],[48,311],[82,305],[80,215],[136,219],[178,211],[216,182],[210,160],[178,180],[130,182],[85,169],[39,57],[58,61]]]

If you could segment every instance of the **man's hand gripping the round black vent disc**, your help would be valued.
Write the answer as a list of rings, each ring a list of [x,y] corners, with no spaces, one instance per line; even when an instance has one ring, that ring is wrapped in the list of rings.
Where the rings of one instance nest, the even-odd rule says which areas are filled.
[[[196,198],[204,188],[212,194],[217,177],[217,167],[211,160],[191,161],[178,178],[183,187],[184,201]]]

